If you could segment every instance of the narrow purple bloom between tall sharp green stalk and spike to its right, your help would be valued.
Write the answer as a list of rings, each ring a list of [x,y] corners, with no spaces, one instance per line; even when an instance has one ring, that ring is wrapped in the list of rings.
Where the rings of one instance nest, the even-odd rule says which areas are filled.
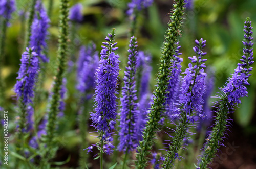
[[[173,111],[173,107],[178,105],[177,103],[177,95],[179,92],[179,85],[180,85],[180,73],[181,73],[181,62],[183,61],[182,58],[178,56],[182,53],[179,53],[179,42],[177,43],[177,49],[175,50],[176,55],[174,55],[174,60],[172,62],[172,74],[170,75],[169,85],[168,85],[168,93],[166,94],[166,101],[165,101],[165,115],[168,117],[170,113]]]

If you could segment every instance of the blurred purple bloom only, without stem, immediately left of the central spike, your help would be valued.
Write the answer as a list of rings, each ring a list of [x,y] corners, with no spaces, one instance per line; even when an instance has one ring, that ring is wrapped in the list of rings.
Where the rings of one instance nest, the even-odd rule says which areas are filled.
[[[76,88],[81,93],[87,93],[95,88],[95,72],[99,65],[99,57],[95,44],[82,46],[79,59],[77,61],[77,85]]]

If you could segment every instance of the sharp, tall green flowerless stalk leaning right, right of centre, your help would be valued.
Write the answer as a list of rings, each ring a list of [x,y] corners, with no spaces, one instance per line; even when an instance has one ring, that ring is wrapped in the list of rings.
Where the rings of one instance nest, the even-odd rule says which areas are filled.
[[[172,69],[169,69],[172,65],[171,60],[174,58],[175,49],[177,47],[176,42],[178,42],[178,36],[181,36],[181,31],[179,30],[182,24],[182,16],[184,15],[184,0],[177,1],[174,4],[173,13],[170,16],[170,21],[168,23],[169,28],[167,29],[162,49],[162,55],[159,64],[159,73],[157,74],[157,85],[153,92],[155,98],[151,106],[151,111],[148,114],[148,121],[146,127],[143,131],[143,141],[139,142],[137,147],[137,161],[135,161],[136,168],[144,169],[147,165],[148,158],[146,157],[150,154],[150,150],[153,146],[154,135],[158,129],[158,122],[161,119],[161,114],[164,111],[164,101],[167,91],[167,86],[169,82],[169,75]]]

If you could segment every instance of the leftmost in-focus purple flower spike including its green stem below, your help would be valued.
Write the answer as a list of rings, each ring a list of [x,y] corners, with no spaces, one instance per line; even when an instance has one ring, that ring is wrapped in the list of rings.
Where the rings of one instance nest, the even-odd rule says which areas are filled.
[[[20,60],[20,69],[18,72],[17,83],[14,86],[14,91],[18,98],[19,121],[18,121],[18,144],[17,150],[24,155],[24,133],[28,129],[27,124],[27,108],[32,103],[34,97],[35,81],[38,76],[39,60],[34,49],[26,49]],[[31,114],[30,114],[31,115]]]

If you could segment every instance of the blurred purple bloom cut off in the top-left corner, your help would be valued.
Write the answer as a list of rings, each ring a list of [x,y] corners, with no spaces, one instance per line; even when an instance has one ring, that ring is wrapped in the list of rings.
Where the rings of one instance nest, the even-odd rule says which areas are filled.
[[[0,16],[10,20],[12,13],[16,10],[14,0],[0,0]],[[7,23],[8,24],[8,23]]]

